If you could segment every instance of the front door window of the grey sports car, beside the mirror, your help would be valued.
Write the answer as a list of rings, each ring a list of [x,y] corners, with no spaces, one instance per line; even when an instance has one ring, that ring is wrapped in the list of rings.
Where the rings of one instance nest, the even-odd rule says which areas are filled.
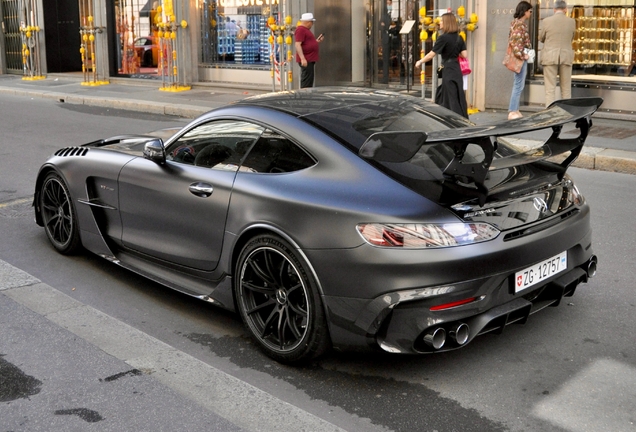
[[[244,121],[220,120],[190,129],[166,148],[168,160],[204,168],[238,170],[264,128]]]

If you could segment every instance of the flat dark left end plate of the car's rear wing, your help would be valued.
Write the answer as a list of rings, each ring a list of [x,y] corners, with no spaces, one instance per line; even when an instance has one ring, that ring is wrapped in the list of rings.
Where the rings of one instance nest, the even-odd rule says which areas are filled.
[[[376,132],[360,147],[358,154],[378,162],[406,162],[426,142],[425,132]]]

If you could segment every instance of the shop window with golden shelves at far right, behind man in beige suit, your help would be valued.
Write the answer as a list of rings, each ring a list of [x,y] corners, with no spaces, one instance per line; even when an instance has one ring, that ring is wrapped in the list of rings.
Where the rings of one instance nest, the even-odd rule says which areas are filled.
[[[633,3],[633,0],[631,0]],[[568,2],[569,16],[576,20],[573,78],[584,75],[625,77],[636,74],[635,8],[625,0]],[[541,18],[552,9],[541,7]],[[539,56],[540,56],[539,52]],[[537,65],[542,73],[540,64]]]

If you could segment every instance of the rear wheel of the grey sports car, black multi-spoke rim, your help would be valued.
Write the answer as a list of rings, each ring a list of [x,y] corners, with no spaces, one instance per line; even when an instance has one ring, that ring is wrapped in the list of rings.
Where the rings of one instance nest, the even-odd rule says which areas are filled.
[[[287,242],[268,234],[254,237],[241,251],[235,274],[238,311],[268,356],[297,363],[330,347],[316,282]]]

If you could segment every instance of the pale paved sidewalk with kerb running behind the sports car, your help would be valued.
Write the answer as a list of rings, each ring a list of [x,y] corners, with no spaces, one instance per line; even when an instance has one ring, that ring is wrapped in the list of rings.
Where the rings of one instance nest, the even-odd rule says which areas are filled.
[[[161,82],[154,79],[114,78],[103,86],[84,86],[81,75],[57,74],[44,80],[23,81],[17,75],[0,75],[0,97],[12,94],[25,97],[54,99],[61,103],[143,111],[155,114],[195,118],[213,108],[250,96],[264,94],[269,89],[244,89],[198,83],[183,92],[160,91]],[[523,109],[523,108],[522,108]],[[489,110],[470,116],[476,124],[503,121],[505,110]],[[574,125],[564,129],[564,135],[575,137]],[[524,148],[536,147],[547,139],[550,131],[538,131],[507,138]],[[594,126],[585,147],[574,166],[636,174],[636,118],[597,112]]]

